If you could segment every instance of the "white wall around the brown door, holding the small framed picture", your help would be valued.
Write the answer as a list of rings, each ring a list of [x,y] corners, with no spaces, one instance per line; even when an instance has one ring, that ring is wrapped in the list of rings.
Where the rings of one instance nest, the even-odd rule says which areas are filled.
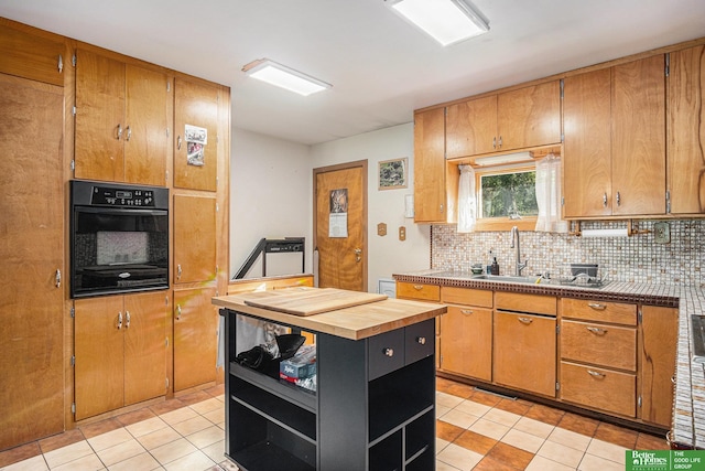
[[[368,164],[368,291],[377,292],[377,280],[393,272],[430,267],[427,225],[404,217],[404,195],[413,194],[413,124],[394,126],[346,139],[312,146],[311,169],[366,160]],[[378,163],[409,159],[409,188],[378,190]],[[313,184],[313,182],[312,182]],[[313,191],[311,188],[310,192]],[[311,203],[313,211],[313,200]],[[387,224],[387,235],[377,235],[377,225]],[[312,220],[313,224],[313,220]],[[399,227],[406,227],[406,240],[399,240]]]

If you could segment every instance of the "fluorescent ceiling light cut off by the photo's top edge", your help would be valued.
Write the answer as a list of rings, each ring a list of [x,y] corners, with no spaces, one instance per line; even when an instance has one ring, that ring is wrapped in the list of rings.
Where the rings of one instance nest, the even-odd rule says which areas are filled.
[[[444,46],[485,34],[489,24],[465,0],[384,0]]]

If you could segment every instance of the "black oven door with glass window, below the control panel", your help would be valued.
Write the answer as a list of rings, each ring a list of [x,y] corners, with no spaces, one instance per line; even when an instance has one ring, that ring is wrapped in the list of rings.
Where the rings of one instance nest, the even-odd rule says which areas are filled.
[[[73,298],[169,288],[169,212],[74,206]]]

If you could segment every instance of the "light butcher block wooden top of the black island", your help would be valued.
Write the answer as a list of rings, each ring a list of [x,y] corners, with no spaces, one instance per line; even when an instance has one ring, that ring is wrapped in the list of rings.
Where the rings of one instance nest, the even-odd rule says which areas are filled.
[[[361,340],[446,312],[437,303],[332,288],[285,288],[213,298],[221,308],[275,323]]]

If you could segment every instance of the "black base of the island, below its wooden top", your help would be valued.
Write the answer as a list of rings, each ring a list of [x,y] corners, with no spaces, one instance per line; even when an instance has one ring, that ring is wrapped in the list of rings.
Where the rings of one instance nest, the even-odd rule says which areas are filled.
[[[312,393],[239,365],[236,318],[242,313],[223,314],[226,454],[240,469],[435,469],[434,319],[358,341],[314,332]],[[386,361],[380,352],[393,361],[375,365]]]

